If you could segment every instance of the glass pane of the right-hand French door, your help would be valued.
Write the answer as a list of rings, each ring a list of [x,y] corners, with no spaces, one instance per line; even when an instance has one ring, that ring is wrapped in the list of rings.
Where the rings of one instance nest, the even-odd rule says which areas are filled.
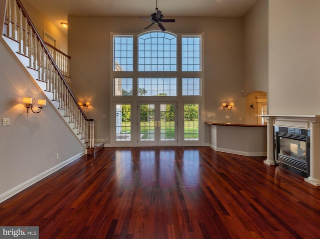
[[[174,104],[160,104],[160,140],[175,139]]]

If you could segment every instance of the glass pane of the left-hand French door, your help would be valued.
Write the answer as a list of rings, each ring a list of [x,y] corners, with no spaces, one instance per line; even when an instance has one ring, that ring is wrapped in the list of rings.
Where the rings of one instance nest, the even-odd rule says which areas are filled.
[[[154,104],[140,105],[140,141],[154,141]]]

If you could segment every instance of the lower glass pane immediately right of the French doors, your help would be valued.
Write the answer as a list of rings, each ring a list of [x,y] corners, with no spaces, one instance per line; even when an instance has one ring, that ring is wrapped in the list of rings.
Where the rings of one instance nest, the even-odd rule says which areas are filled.
[[[199,140],[199,105],[184,105],[184,140]]]

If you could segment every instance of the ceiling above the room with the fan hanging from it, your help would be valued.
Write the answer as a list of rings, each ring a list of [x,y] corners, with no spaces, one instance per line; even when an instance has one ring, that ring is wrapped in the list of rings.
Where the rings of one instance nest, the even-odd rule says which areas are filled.
[[[145,16],[155,6],[164,18],[175,16],[243,16],[257,0],[25,0],[56,25],[67,15]],[[156,2],[157,1],[157,2]],[[23,3],[23,2],[22,2]]]

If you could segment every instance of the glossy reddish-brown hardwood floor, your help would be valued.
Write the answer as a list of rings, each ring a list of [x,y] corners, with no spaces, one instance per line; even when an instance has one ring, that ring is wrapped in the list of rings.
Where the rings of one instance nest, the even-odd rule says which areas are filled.
[[[104,148],[1,203],[0,226],[39,226],[40,239],[320,238],[320,189],[263,159]]]

